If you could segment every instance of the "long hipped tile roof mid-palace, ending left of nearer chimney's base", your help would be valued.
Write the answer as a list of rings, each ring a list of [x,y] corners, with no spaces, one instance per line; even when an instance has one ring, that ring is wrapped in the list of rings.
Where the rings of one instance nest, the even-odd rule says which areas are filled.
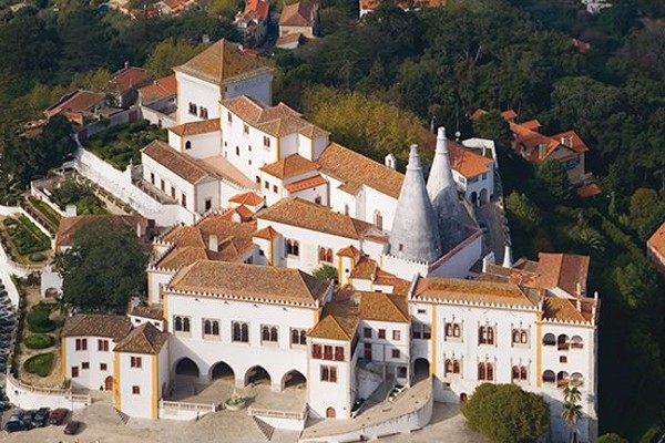
[[[256,217],[358,240],[375,231],[374,225],[369,223],[334,213],[326,206],[297,197],[283,198],[269,208],[259,212]]]

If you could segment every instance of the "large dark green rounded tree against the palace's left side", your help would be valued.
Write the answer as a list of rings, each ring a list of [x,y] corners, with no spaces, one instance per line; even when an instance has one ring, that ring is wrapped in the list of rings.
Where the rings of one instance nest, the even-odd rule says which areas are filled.
[[[133,229],[100,217],[79,228],[72,243],[61,257],[64,301],[81,311],[124,312],[145,287],[147,254]]]

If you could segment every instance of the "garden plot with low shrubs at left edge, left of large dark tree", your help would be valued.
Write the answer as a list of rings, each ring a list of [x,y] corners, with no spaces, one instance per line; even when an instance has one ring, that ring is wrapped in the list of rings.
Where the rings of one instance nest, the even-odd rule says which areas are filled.
[[[0,229],[2,246],[17,262],[39,262],[47,259],[51,239],[24,215],[7,217]]]

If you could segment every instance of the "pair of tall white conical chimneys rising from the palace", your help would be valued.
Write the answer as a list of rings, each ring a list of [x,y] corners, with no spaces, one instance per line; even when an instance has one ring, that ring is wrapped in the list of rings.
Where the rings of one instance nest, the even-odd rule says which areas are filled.
[[[390,254],[431,262],[457,246],[463,237],[464,226],[448,156],[446,128],[439,127],[427,186],[418,146],[411,146],[390,233]]]

